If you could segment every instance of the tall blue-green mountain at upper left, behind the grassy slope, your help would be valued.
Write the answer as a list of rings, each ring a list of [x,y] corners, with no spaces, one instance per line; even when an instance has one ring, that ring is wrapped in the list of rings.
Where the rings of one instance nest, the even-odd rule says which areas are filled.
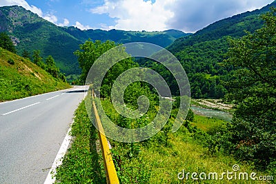
[[[1,7],[0,31],[9,32],[19,55],[23,50],[41,50],[44,58],[52,55],[61,72],[70,74],[80,71],[77,58],[72,53],[81,41],[37,14],[19,6]]]

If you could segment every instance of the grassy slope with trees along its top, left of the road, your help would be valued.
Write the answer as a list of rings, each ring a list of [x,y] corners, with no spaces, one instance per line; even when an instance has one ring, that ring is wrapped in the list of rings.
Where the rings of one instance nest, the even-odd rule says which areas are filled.
[[[0,102],[70,88],[52,56],[46,61],[34,50],[17,55],[6,32],[0,33]]]

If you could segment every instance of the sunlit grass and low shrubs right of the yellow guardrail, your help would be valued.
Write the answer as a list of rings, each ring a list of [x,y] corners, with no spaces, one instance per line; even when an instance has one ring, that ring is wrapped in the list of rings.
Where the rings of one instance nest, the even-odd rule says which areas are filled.
[[[115,123],[128,122],[128,126],[135,124],[135,121],[116,115],[110,101],[103,100],[102,103],[105,112],[108,116],[112,115],[112,121]],[[179,179],[177,175],[182,170],[186,173],[222,173],[231,171],[235,164],[238,164],[243,171],[253,171],[253,167],[240,163],[233,156],[218,152],[218,142],[213,135],[224,129],[225,121],[198,116],[190,111],[181,128],[172,133],[172,123],[175,120],[173,111],[162,130],[146,141],[119,143],[110,140],[112,157],[121,183],[193,183],[195,181],[190,177],[186,180],[185,175]],[[154,114],[148,112],[145,119],[152,116]],[[151,121],[151,118],[148,121]],[[204,181],[204,183],[213,182]],[[225,178],[216,183],[230,183],[230,181]]]

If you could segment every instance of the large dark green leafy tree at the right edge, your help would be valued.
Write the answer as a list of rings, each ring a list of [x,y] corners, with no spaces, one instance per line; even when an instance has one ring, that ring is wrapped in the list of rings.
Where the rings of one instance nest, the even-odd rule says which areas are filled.
[[[228,127],[233,152],[265,169],[276,163],[276,8],[262,19],[253,34],[230,39],[225,63],[239,68],[228,83],[228,99],[238,103]]]

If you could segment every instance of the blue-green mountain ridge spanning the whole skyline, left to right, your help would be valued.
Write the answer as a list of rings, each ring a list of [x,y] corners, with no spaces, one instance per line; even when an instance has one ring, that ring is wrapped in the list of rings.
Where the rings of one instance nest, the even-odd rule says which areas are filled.
[[[186,34],[179,30],[166,30],[164,32],[79,30],[72,26],[59,27],[22,7],[7,6],[0,7],[0,32],[7,31],[10,34],[14,43],[17,44],[18,54],[21,54],[24,49],[29,52],[41,50],[41,55],[44,58],[52,55],[61,68],[61,72],[77,74],[80,72],[79,64],[77,57],[72,53],[79,49],[79,44],[87,39],[92,41],[110,39],[117,43],[133,41],[155,43],[162,47],[168,46],[170,52],[180,56],[179,52],[187,47],[198,46],[199,43],[202,47],[202,43],[206,41],[217,42],[218,39],[226,36],[242,37],[245,34],[244,30],[250,32],[257,30],[262,26],[259,15],[268,12],[271,6],[276,7],[276,1],[260,10],[244,12],[212,23],[195,34]],[[221,48],[222,50],[227,48],[225,40],[222,40],[225,43],[225,46]],[[203,47],[201,50],[206,52],[208,48]]]

